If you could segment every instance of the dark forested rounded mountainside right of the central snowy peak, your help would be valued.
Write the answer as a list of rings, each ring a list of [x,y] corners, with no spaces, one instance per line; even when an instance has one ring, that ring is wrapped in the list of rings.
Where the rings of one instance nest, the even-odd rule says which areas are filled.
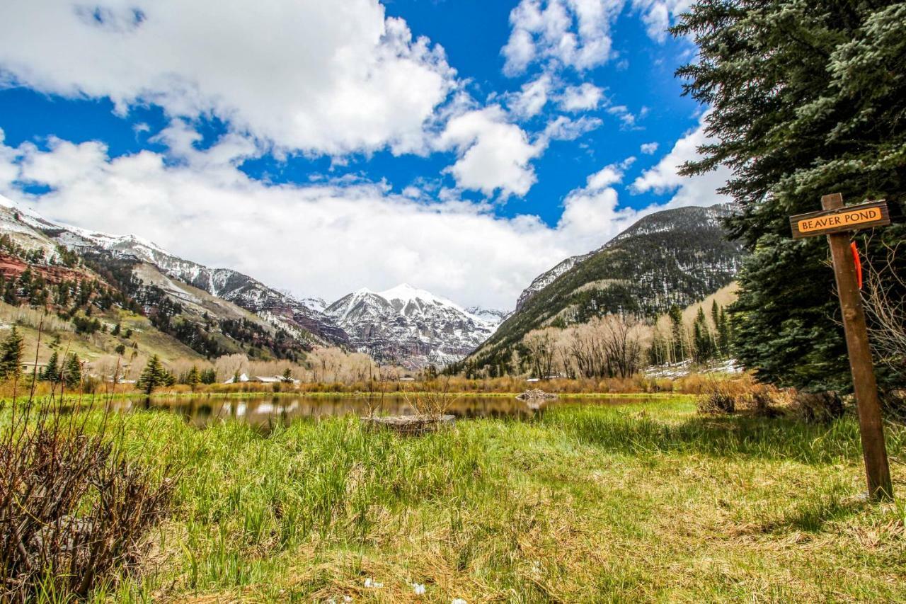
[[[525,299],[466,364],[496,375],[533,329],[582,324],[608,314],[653,319],[727,286],[742,258],[739,244],[728,239],[722,225],[728,215],[725,206],[690,207],[640,219]]]

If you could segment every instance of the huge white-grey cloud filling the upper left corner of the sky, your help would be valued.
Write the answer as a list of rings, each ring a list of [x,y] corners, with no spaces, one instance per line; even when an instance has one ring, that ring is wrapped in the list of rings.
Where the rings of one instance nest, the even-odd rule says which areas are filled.
[[[96,6],[96,8],[95,8]],[[425,151],[457,83],[443,49],[377,0],[5,0],[7,81],[120,112],[215,114],[277,148]]]

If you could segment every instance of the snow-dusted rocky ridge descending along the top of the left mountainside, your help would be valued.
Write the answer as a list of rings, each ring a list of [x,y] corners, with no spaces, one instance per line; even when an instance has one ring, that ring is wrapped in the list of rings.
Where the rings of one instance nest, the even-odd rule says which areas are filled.
[[[9,201],[9,204],[13,202]],[[154,242],[135,235],[111,235],[72,227],[44,219],[32,209],[17,208],[16,211],[25,224],[46,233],[66,248],[82,253],[105,252],[115,258],[136,258],[154,265],[169,278],[245,308],[288,333],[311,334],[324,344],[345,345],[349,342],[343,330],[323,315],[323,300],[319,298],[296,298],[231,268],[207,268],[198,262],[178,258]]]

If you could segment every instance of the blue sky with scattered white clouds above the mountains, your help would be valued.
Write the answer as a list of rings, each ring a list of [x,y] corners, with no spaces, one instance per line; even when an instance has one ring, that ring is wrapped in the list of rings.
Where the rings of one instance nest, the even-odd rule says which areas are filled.
[[[681,1],[11,0],[0,194],[328,301],[512,307],[644,213],[720,200]]]

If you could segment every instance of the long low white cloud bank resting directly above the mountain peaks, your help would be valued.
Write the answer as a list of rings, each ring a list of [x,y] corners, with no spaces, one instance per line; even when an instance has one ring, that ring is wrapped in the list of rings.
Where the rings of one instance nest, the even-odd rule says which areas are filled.
[[[181,129],[174,124],[168,140]],[[248,147],[230,136],[178,163],[153,151],[111,159],[97,141],[49,146],[0,144],[0,193],[51,219],[135,233],[183,258],[331,299],[406,281],[461,304],[510,308],[541,272],[664,207],[619,208],[613,185],[630,160],[570,192],[551,228],[532,215],[501,218],[450,190],[431,196],[429,183],[404,195],[383,183],[266,185],[236,168]],[[53,189],[29,196],[16,180]]]

